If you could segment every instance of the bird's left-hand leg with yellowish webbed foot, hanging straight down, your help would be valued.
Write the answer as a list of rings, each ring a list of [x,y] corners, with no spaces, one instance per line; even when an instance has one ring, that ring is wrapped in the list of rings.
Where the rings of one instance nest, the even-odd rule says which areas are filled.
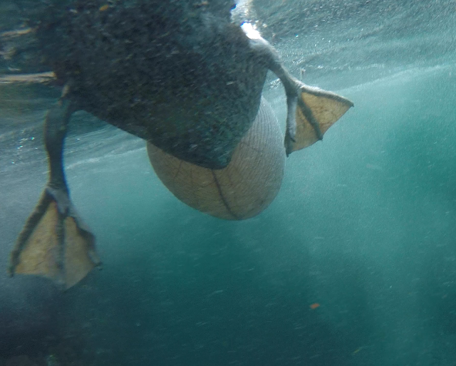
[[[65,95],[48,110],[44,125],[48,184],[19,234],[9,265],[11,276],[43,276],[63,288],[75,285],[100,264],[95,238],[71,203],[63,172],[63,144],[73,112]]]

